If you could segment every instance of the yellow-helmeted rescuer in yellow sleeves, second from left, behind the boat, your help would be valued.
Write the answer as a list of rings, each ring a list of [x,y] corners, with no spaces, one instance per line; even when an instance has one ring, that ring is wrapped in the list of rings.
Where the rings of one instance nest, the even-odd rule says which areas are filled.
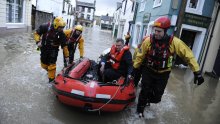
[[[82,31],[82,25],[76,25],[73,29],[64,30],[68,43],[69,64],[72,64],[74,60],[74,54],[78,44],[80,58],[83,58],[84,56],[84,38],[82,37]],[[66,59],[64,59],[64,67],[67,65]]]

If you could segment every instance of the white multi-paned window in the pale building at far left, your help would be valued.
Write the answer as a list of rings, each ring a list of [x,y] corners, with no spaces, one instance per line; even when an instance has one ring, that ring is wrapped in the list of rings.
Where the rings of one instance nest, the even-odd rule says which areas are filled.
[[[23,21],[23,0],[7,0],[6,22],[21,23]]]

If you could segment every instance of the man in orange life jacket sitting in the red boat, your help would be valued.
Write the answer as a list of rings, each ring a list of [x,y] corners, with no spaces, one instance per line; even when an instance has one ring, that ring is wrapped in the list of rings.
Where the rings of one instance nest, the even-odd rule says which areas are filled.
[[[99,81],[111,82],[121,76],[131,78],[132,55],[129,47],[124,45],[124,40],[119,38],[112,45],[111,50],[101,58]]]

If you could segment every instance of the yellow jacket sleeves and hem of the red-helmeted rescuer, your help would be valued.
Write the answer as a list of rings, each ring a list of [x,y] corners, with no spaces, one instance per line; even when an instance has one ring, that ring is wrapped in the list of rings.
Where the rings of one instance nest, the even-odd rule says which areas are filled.
[[[146,54],[151,48],[151,42],[150,42],[150,37],[148,37],[142,44],[141,46],[141,52],[138,52],[136,55],[136,59],[134,61],[134,68],[139,68],[140,65],[142,64],[144,58],[146,57]],[[190,68],[192,69],[193,72],[199,71],[199,65],[193,55],[193,52],[191,49],[179,38],[173,37],[173,41],[170,44],[169,48],[171,54],[176,53],[180,58],[185,60],[185,62],[188,63]],[[166,70],[158,71],[158,73],[162,73],[165,71],[170,71],[171,68],[168,68]]]

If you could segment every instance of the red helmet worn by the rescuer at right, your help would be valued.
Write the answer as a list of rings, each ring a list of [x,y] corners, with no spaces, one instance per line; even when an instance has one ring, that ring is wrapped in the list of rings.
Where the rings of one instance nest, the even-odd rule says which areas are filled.
[[[161,16],[154,21],[154,27],[167,29],[170,27],[170,19],[166,16]]]

